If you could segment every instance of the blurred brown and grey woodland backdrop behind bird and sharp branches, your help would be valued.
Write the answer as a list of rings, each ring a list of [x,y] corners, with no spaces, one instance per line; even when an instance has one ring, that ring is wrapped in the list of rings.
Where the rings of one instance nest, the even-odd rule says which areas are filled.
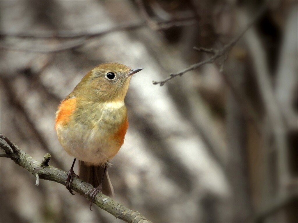
[[[209,58],[267,10],[214,63]],[[109,168],[153,222],[298,222],[297,1],[1,1],[1,133],[69,170],[55,111],[93,67],[143,67]],[[221,70],[224,63],[224,69]],[[75,167],[77,172],[77,167]],[[1,158],[1,222],[121,222]]]

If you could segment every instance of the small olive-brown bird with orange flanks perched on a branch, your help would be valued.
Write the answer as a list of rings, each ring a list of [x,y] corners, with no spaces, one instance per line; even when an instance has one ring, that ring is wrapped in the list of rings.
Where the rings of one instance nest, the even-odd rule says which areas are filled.
[[[78,159],[80,179],[94,186],[85,194],[90,196],[90,210],[98,192],[114,195],[107,168],[123,145],[128,128],[124,98],[131,77],[142,69],[116,62],[100,64],[82,78],[56,112],[58,140],[75,157],[66,188],[74,194],[71,183],[78,177],[73,170]]]

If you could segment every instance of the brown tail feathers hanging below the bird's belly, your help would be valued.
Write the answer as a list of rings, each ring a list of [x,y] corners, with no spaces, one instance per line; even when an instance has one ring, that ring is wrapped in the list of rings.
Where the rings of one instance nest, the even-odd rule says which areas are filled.
[[[94,188],[99,186],[101,179],[103,178],[104,166],[90,166],[84,161],[79,160],[79,176],[80,179],[90,183]],[[114,197],[114,189],[111,180],[108,175],[108,171],[103,178],[103,194]]]

